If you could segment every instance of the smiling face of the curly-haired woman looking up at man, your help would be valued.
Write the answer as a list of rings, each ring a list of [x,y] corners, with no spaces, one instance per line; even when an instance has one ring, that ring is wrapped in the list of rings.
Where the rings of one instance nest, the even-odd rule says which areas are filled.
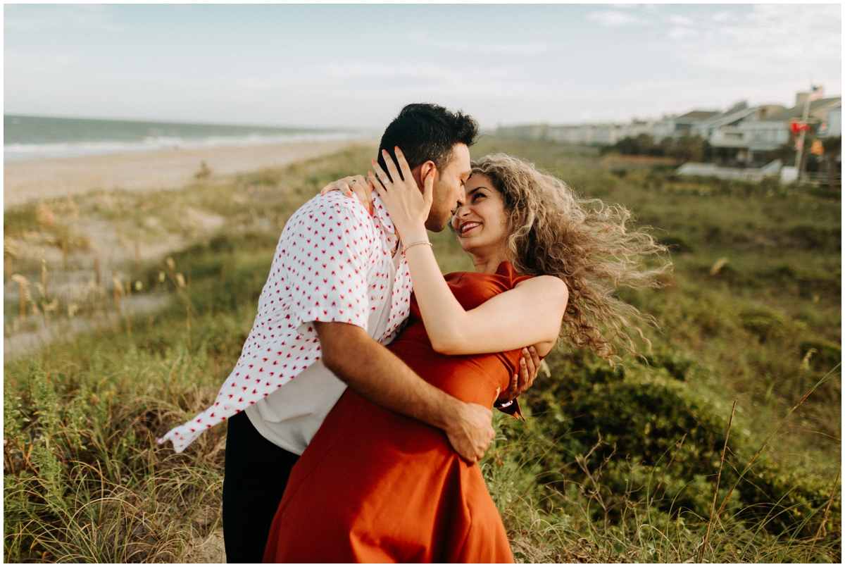
[[[483,175],[473,173],[466,182],[464,204],[455,210],[452,228],[461,248],[475,255],[498,254],[508,236],[502,194]]]

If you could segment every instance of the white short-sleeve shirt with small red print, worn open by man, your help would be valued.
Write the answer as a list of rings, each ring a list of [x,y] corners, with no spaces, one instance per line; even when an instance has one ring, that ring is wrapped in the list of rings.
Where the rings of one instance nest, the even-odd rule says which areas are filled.
[[[373,215],[357,199],[332,191],[309,200],[287,222],[276,246],[258,314],[241,357],[215,402],[159,439],[182,452],[205,429],[226,421],[294,379],[320,357],[313,322],[367,330],[371,313],[390,291],[389,342],[410,312],[411,275],[402,257],[390,286],[393,223],[373,197]]]

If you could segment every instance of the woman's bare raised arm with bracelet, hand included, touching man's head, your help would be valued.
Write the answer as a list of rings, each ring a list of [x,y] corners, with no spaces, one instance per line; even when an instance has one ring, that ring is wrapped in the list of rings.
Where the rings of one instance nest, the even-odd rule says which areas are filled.
[[[377,163],[378,176],[371,181],[387,205],[390,219],[404,245],[428,241],[424,222],[433,198],[433,175],[423,179],[423,192],[417,188],[401,150],[396,150],[402,175],[390,155],[385,155],[391,183]],[[559,278],[541,275],[522,281],[513,290],[500,293],[477,308],[466,311],[455,299],[441,275],[431,247],[412,246],[405,251],[414,294],[423,315],[428,337],[435,351],[443,354],[504,352],[535,345],[545,356],[560,332],[569,292]]]

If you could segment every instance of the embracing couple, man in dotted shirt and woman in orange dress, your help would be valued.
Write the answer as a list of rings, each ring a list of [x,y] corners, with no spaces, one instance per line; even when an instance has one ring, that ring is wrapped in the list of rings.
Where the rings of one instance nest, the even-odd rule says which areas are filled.
[[[472,162],[476,137],[461,112],[403,108],[374,174],[292,215],[214,405],[159,440],[228,422],[229,562],[513,561],[477,466],[490,408],[519,412],[559,338],[634,350],[644,317],[613,292],[667,264],[642,264],[663,248],[627,210],[509,155]],[[476,271],[441,275],[427,229],[447,225]]]

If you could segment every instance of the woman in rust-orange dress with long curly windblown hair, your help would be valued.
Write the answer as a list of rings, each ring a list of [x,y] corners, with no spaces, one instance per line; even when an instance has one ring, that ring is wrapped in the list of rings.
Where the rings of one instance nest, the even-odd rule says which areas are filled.
[[[647,270],[635,260],[664,248],[625,231],[628,211],[578,199],[516,158],[482,158],[451,221],[476,272],[444,277],[423,226],[433,174],[421,194],[396,155],[401,176],[385,154],[392,183],[374,161],[379,175],[370,175],[401,235],[415,293],[406,329],[389,348],[423,379],[492,406],[526,341],[541,356],[559,336],[608,358],[614,343],[634,348],[628,334],[643,317],[613,289],[656,286],[668,264]],[[462,461],[439,430],[347,390],[292,471],[264,561],[513,557],[478,466]]]

